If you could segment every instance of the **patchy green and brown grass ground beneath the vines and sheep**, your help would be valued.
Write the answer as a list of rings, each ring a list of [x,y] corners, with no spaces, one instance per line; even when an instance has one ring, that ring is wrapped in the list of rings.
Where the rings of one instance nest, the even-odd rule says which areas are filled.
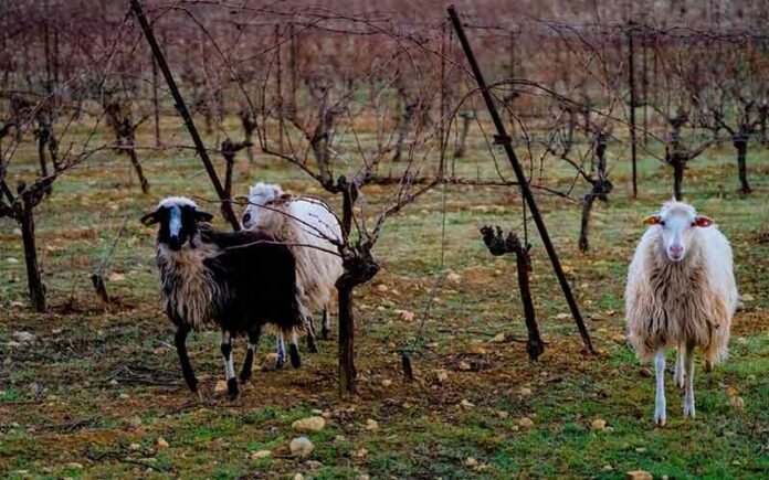
[[[474,145],[474,154],[459,168],[471,177],[492,172],[487,151],[477,139]],[[624,275],[642,232],[638,220],[670,195],[670,172],[651,158],[640,162],[638,200],[628,195],[626,158],[615,162],[618,189],[609,204],[596,207],[589,254],[577,250],[579,205],[539,198],[598,356],[583,352],[563,314],[568,309],[536,235],[530,238],[533,288],[546,353],[529,363],[522,344],[491,342],[499,332],[525,337],[525,328],[512,259],[488,255],[477,228],[517,226],[520,199],[501,189],[439,189],[387,226],[376,249],[383,269],[356,292],[358,394],[338,398],[336,345],[322,342],[322,353],[305,354],[298,371],[257,372],[234,403],[213,391],[221,362],[212,332],[189,342],[203,401],[186,392],[159,306],[155,232],[138,224],[161,196],[211,196],[202,168],[188,153],[146,159],[152,193],[144,196],[128,180],[127,159],[96,158],[57,181],[38,211],[49,313],[27,309],[21,242],[14,225],[3,221],[0,227],[0,471],[9,478],[289,478],[302,472],[318,479],[362,473],[449,479],[618,478],[644,469],[670,478],[767,478],[769,245],[758,243],[756,234],[767,215],[769,157],[751,152],[755,193],[747,198],[734,193],[733,157],[725,149],[697,159],[684,189],[731,238],[746,308],[735,319],[729,361],[697,375],[697,419],[682,418],[681,394],[668,381],[668,426],[662,429],[651,420],[647,367],[617,340],[623,330]],[[32,175],[33,147],[25,145],[19,158],[13,172]],[[546,172],[548,184],[569,184],[562,164],[549,164]],[[241,161],[236,190],[244,192],[257,177],[322,193],[301,172],[264,158],[256,166]],[[367,211],[376,213],[390,192],[373,186],[364,193]],[[92,294],[89,275],[126,217],[105,271],[119,274],[107,282],[115,305],[105,310]],[[444,267],[460,277],[435,298],[424,326],[425,348],[413,358],[417,380],[405,384],[398,350],[414,338],[418,323],[403,321],[396,310],[421,312]],[[19,331],[36,340],[17,344]],[[235,346],[238,360],[242,346]],[[270,350],[265,340],[260,364]],[[462,370],[463,363],[472,369]],[[697,369],[702,372],[699,363]],[[439,370],[447,372],[446,382],[438,382]],[[291,458],[292,422],[318,412],[329,422],[309,435],[316,446],[309,460]],[[519,426],[523,417],[533,426]],[[366,429],[368,418],[378,422],[377,430]],[[609,428],[592,430],[597,418]],[[168,448],[157,445],[159,437]],[[250,458],[262,449],[272,450],[273,458]]]

